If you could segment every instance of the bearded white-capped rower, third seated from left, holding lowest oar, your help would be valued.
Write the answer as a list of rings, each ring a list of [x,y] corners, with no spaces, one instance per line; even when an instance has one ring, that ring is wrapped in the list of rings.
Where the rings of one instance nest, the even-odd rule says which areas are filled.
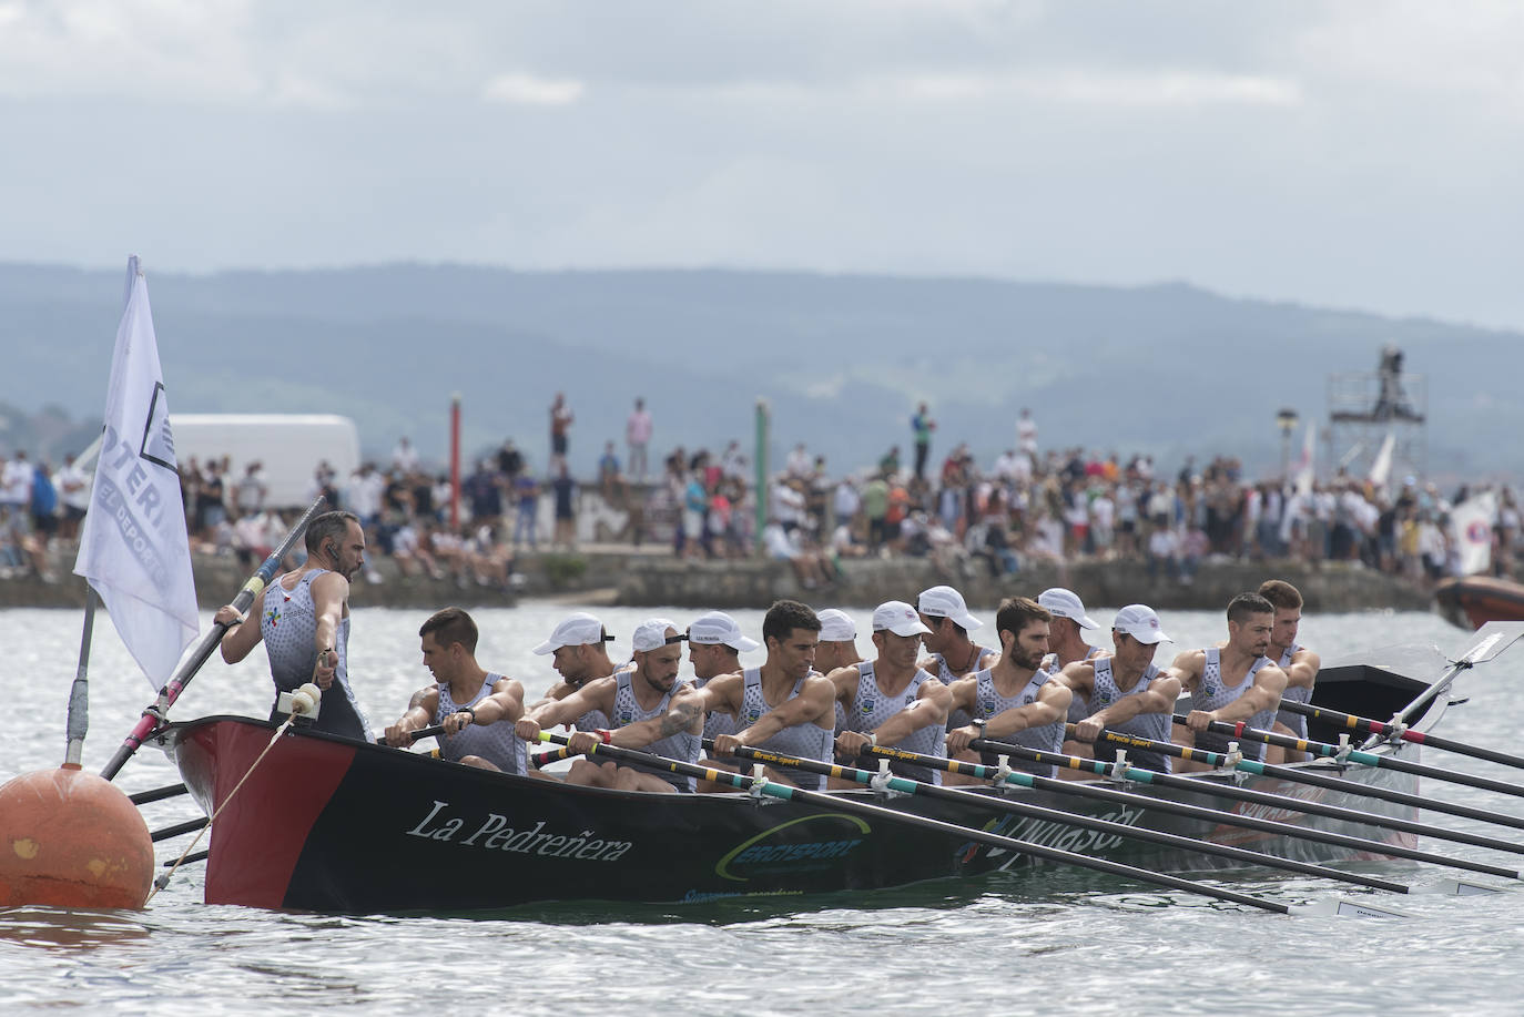
[[[636,628],[634,668],[588,682],[564,700],[547,700],[526,714],[515,730],[527,743],[539,741],[544,727],[565,724],[588,711],[613,720],[613,729],[578,730],[567,739],[572,753],[591,752],[600,741],[620,749],[698,762],[704,732],[704,711],[698,692],[678,679],[683,640],[677,624],[654,618]],[[567,784],[587,784],[622,791],[692,791],[693,778],[657,776],[614,762],[578,759],[567,770]]]

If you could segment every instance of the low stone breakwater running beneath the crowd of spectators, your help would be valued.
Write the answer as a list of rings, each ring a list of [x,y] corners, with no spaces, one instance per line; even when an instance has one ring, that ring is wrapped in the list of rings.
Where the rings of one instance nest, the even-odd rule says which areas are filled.
[[[765,608],[779,598],[820,605],[872,607],[882,601],[913,601],[916,593],[939,582],[956,585],[969,604],[992,607],[1012,595],[1035,596],[1050,585],[1067,585],[1087,604],[1120,607],[1143,602],[1160,610],[1221,610],[1244,590],[1269,578],[1295,584],[1309,611],[1431,610],[1433,596],[1417,585],[1370,569],[1323,563],[1312,569],[1292,561],[1205,561],[1190,584],[1167,578],[1151,579],[1141,563],[1085,561],[1065,567],[1032,563],[1015,575],[992,578],[983,566],[940,570],[925,558],[849,560],[831,587],[805,590],[782,561],[684,561],[666,547],[600,544],[576,552],[530,552],[520,555],[517,581],[506,590],[460,585],[451,579],[404,576],[396,563],[378,558],[379,582],[355,579],[355,607],[434,610],[462,607],[511,607],[520,596],[553,596],[568,602],[620,604],[628,607]],[[0,579],[0,608],[75,607],[85,599],[84,579],[72,575],[73,553],[52,563],[56,579],[37,576]],[[203,608],[233,599],[248,569],[229,557],[200,557],[194,563],[197,595]]]

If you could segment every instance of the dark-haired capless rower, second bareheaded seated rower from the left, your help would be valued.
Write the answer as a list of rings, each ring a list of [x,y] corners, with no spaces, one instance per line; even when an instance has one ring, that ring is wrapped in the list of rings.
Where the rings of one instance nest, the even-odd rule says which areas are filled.
[[[820,619],[805,604],[777,601],[762,619],[762,640],[767,660],[760,668],[722,674],[700,692],[710,717],[730,717],[736,729],[715,738],[713,756],[728,761],[739,746],[754,746],[829,762],[835,686],[814,669]],[[716,761],[715,765],[722,764]],[[800,770],[770,768],[768,778],[811,790],[821,784],[818,775]]]

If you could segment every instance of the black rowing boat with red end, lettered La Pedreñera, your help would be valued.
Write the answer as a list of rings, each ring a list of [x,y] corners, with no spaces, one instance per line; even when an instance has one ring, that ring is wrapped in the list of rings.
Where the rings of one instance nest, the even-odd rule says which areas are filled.
[[[1315,703],[1388,717],[1422,689],[1422,682],[1393,671],[1352,665],[1320,674]],[[1414,727],[1431,727],[1442,712],[1443,704],[1426,709]],[[300,727],[277,738],[261,759],[271,733],[267,721],[206,717],[171,724],[154,736],[207,814],[226,805],[212,828],[209,904],[332,913],[463,913],[547,900],[698,903],[876,889],[1032,863],[1000,846],[806,804],[747,793],[651,794],[570,787]],[[1338,738],[1332,727],[1314,726],[1312,735]],[[1401,749],[1385,746],[1381,752],[1411,759],[1417,746],[1402,743]],[[1343,768],[1332,761],[1298,765],[1332,773]],[[247,782],[233,796],[245,775]],[[1416,790],[1417,782],[1382,768],[1349,770],[1343,776],[1398,790]],[[1212,802],[1213,788],[1231,782],[1366,813],[1396,817],[1413,813],[1405,805],[1277,779],[1244,781],[1227,773],[1196,779],[1205,797],[1172,788],[1128,787],[1145,796],[1204,804]],[[1039,790],[1013,793],[1024,802],[1289,858],[1372,857],[1140,805],[1085,800],[1076,805]],[[869,790],[838,794],[843,800],[882,802]],[[997,791],[986,788],[981,794],[988,799]],[[1291,810],[1227,799],[1212,804],[1236,814],[1381,837],[1385,843],[1411,846],[1414,840],[1408,833],[1373,834],[1369,826]],[[1010,816],[995,805],[983,807],[977,797],[945,802],[905,796],[890,799],[888,805],[1158,872],[1231,865],[1178,848]]]

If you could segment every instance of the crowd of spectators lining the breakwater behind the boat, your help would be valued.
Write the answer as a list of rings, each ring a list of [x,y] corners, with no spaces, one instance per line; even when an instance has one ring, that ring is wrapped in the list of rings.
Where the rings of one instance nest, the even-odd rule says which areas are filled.
[[[654,436],[643,399],[626,427],[632,474],[608,441],[597,476],[579,485],[567,465],[572,412],[552,407],[547,468],[536,473],[514,439],[482,457],[462,479],[451,525],[448,476],[427,468],[404,438],[384,465],[364,462],[340,477],[319,464],[308,502],[319,492],[355,512],[373,555],[405,576],[507,589],[521,550],[575,550],[579,515],[596,503],[616,543],[669,543],[683,558],[786,560],[806,587],[831,585],[843,558],[925,557],[948,575],[1020,572],[1032,561],[1138,561],[1151,576],[1192,582],[1212,560],[1291,558],[1364,567],[1433,584],[1458,572],[1451,499],[1434,483],[1405,477],[1390,488],[1356,477],[1251,480],[1237,459],[1195,459],[1170,474],[1146,454],[1126,459],[1084,448],[1039,451],[1036,424],[1023,410],[1018,442],[988,465],[965,444],[930,457],[936,422],[925,404],[911,418],[913,465],[899,447],[876,464],[832,474],[824,456],[800,442],[771,471],[757,512],[753,464],[732,441],[719,454],[672,448],[649,477]],[[236,555],[250,567],[267,557],[293,521],[291,506],[270,506],[258,462],[233,477],[229,462],[181,464],[192,549]],[[594,497],[596,496],[596,497]],[[1519,512],[1510,488],[1495,491],[1494,572],[1513,575]],[[544,531],[541,505],[553,509]],[[0,576],[37,573],[50,541],[73,541],[88,505],[88,476],[72,456],[56,470],[15,451],[0,464]],[[760,532],[757,526],[760,525]],[[757,550],[760,549],[760,550]],[[367,570],[369,581],[381,573]]]

